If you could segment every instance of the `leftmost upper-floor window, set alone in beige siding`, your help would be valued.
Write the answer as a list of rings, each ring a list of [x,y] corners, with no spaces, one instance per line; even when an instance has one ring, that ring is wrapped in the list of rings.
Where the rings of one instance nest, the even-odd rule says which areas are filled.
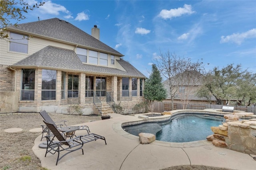
[[[28,36],[10,32],[9,51],[28,54]]]

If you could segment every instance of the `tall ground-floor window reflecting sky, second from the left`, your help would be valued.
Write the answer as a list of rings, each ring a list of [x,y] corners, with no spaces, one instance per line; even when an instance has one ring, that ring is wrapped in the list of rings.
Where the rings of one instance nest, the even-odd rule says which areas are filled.
[[[42,69],[42,100],[56,100],[56,70]]]

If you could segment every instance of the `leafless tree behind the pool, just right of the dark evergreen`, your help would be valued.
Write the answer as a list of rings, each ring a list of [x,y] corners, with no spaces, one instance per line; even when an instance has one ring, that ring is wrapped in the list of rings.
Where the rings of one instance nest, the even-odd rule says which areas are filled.
[[[181,100],[183,109],[185,109],[200,84],[201,73],[204,72],[203,63],[199,61],[192,63],[190,58],[180,57],[170,51],[166,53],[160,51],[155,63],[166,79],[164,85],[172,100],[172,110],[175,98]]]

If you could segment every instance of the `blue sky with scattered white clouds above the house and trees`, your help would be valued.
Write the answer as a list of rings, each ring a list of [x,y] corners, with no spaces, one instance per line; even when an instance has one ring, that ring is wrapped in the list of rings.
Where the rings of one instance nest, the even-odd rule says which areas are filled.
[[[60,18],[88,34],[97,25],[100,41],[146,76],[160,51],[202,59],[206,70],[234,63],[256,72],[255,0],[44,2],[19,23]]]

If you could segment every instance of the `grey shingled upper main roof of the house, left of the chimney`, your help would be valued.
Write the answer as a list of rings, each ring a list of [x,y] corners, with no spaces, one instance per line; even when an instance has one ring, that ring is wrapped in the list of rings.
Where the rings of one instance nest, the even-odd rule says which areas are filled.
[[[27,33],[28,35],[36,35],[72,43],[81,47],[96,49],[98,51],[108,52],[118,56],[124,56],[115,49],[112,49],[108,45],[82,31],[78,27],[58,18],[22,23],[18,24],[18,26],[12,25],[7,27],[7,29],[21,31],[23,33]]]

